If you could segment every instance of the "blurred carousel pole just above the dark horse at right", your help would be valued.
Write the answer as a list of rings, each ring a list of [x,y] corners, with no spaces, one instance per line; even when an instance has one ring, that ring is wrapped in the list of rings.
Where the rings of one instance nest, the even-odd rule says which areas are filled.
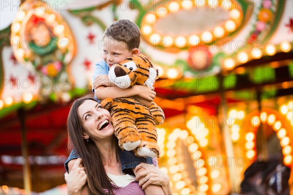
[[[259,89],[256,90],[256,98],[258,104],[258,112],[259,115],[261,113],[261,91]],[[257,157],[261,158],[263,161],[268,160],[268,147],[267,147],[267,140],[265,138],[263,123],[260,123],[258,130],[255,135],[256,141],[256,152]]]

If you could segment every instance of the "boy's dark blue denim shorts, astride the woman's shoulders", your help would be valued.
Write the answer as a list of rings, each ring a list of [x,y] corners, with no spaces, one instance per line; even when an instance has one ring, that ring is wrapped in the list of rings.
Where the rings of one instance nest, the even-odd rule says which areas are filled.
[[[147,157],[138,157],[135,156],[132,151],[122,151],[119,149],[119,157],[122,165],[122,171],[125,174],[129,174],[134,176],[134,173],[132,171],[132,168],[135,168],[140,163],[144,162],[146,164],[153,164],[153,159],[149,156]],[[67,160],[64,162],[64,167],[68,173],[68,162],[72,159],[80,158],[80,156],[77,154],[76,150],[73,149],[70,152],[70,155],[68,156]]]

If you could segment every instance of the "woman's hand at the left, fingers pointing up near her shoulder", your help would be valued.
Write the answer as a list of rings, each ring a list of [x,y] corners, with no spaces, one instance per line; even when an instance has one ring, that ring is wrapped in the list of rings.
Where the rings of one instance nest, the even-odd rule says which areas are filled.
[[[67,172],[64,174],[64,178],[67,184],[68,195],[81,194],[86,183],[86,174],[82,165],[82,158],[77,158],[69,174]]]

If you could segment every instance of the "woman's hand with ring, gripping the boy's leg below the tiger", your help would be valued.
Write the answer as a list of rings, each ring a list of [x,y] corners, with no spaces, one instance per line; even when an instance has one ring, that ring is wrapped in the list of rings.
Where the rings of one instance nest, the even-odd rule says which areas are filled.
[[[134,172],[144,168],[144,171],[137,173],[135,180],[139,181],[139,186],[144,190],[148,185],[162,186],[162,189],[167,194],[172,194],[169,177],[163,173],[158,167],[154,167],[152,164],[141,163],[136,166]]]

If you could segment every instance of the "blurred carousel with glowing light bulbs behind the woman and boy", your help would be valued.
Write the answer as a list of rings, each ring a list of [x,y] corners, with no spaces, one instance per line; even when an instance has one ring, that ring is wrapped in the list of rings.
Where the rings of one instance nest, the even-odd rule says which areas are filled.
[[[105,28],[159,69],[174,194],[293,194],[292,0],[0,0],[0,194],[66,194],[66,120]],[[291,192],[291,193],[290,193]]]

